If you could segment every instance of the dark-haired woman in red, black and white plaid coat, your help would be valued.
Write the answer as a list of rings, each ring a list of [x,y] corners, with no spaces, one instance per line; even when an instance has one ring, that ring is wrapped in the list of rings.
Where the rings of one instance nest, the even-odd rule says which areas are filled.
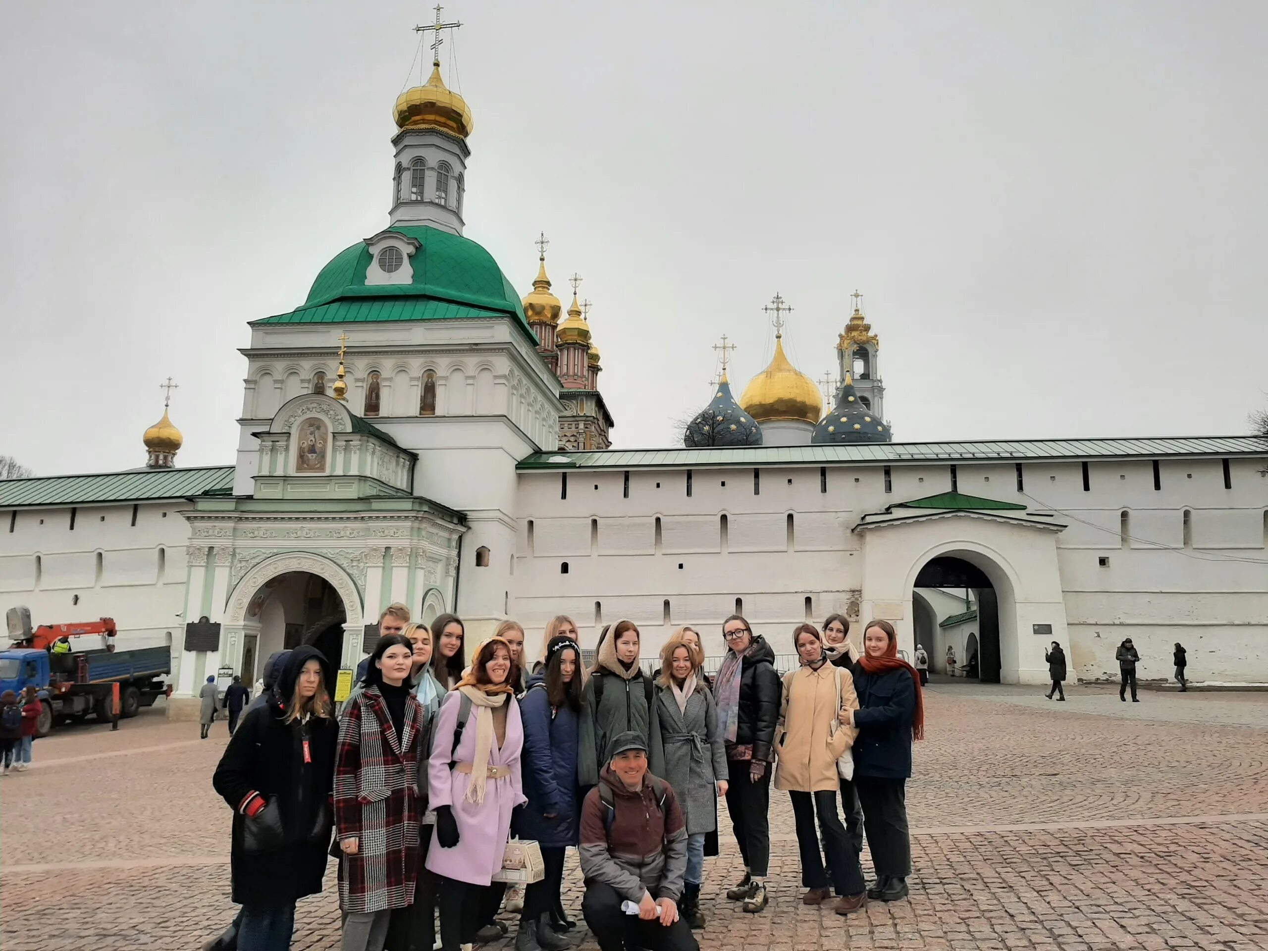
[[[344,853],[344,951],[380,951],[392,909],[413,900],[422,818],[418,758],[425,751],[422,706],[408,682],[412,661],[408,638],[379,638],[365,691],[339,725],[335,832]]]

